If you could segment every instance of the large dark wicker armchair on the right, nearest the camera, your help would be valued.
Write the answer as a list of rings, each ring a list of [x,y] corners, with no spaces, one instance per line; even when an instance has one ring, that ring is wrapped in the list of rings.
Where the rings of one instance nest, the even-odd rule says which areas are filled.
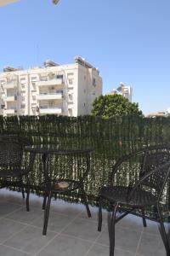
[[[131,183],[119,185],[119,181],[122,183],[123,180],[123,175],[119,180],[120,172],[121,170],[125,171],[126,166],[128,166],[128,170],[133,171],[133,177],[129,177]],[[109,185],[99,191],[98,224],[98,230],[100,231],[102,226],[102,203],[103,201],[108,201],[112,211],[111,223],[109,224],[110,256],[114,256],[115,224],[128,213],[139,209],[142,213],[140,216],[143,218],[144,227],[146,227],[144,209],[149,206],[154,207],[158,221],[161,224],[161,236],[166,247],[167,256],[170,256],[170,247],[160,210],[161,195],[169,174],[170,148],[164,146],[144,148],[128,154],[118,160],[112,167]],[[127,207],[129,210],[116,217],[118,207]]]

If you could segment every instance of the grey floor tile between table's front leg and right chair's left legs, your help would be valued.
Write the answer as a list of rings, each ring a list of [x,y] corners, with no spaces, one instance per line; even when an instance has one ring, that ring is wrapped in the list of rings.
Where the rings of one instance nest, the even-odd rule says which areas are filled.
[[[77,236],[88,241],[94,241],[99,236],[97,224],[83,218],[76,218],[63,233],[70,236]]]

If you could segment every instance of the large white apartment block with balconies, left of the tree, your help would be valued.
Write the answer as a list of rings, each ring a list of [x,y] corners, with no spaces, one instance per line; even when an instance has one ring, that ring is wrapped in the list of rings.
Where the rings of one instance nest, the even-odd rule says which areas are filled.
[[[99,70],[79,56],[73,64],[60,66],[45,61],[44,67],[5,67],[0,73],[3,116],[89,114],[94,99],[101,94]]]

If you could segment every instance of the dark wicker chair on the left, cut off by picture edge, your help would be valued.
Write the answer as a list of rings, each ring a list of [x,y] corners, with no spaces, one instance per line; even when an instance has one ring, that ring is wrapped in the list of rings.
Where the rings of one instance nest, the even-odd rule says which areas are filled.
[[[29,211],[30,181],[28,174],[33,167],[35,155],[30,154],[29,165],[23,166],[23,145],[16,137],[0,138],[0,188],[19,187],[25,198],[26,211]],[[24,181],[26,179],[26,183]]]

